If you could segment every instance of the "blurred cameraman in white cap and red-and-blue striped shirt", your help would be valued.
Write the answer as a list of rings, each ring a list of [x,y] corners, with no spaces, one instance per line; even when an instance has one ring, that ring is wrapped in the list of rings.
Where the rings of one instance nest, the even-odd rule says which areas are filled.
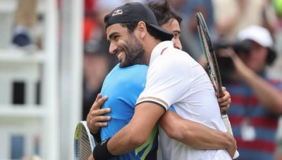
[[[270,79],[266,65],[276,59],[271,34],[264,27],[252,25],[240,30],[234,51],[219,49],[231,57],[230,76],[223,85],[231,93],[228,116],[237,141],[239,159],[274,159],[278,118],[282,114],[282,82]],[[219,58],[221,62],[221,58]],[[221,70],[222,71],[222,70]]]

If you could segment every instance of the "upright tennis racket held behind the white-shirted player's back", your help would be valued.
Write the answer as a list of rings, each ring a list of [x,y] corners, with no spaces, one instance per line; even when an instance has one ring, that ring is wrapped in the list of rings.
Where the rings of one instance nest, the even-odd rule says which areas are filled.
[[[219,65],[217,64],[216,54],[214,52],[214,46],[212,44],[212,39],[209,36],[209,29],[207,28],[206,22],[204,21],[204,17],[202,13],[198,12],[196,14],[197,18],[197,29],[199,32],[202,49],[204,51],[204,57],[207,60],[207,69],[209,71],[209,78],[214,85],[214,90],[216,91],[216,95],[221,98],[223,97],[222,93],[222,83],[221,83],[221,76],[219,72]],[[228,119],[228,115],[226,112],[221,112],[221,119],[224,122],[224,125],[227,128],[227,131],[233,135],[233,131],[231,128],[230,121]],[[239,152],[236,150],[233,159],[238,158]]]

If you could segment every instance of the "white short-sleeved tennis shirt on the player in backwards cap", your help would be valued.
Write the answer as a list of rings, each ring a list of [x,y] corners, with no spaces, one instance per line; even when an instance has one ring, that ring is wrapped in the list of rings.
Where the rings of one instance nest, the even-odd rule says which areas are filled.
[[[227,131],[209,76],[188,53],[173,48],[171,41],[161,42],[152,51],[147,83],[137,104],[142,102],[157,103],[165,110],[173,105],[184,119]],[[194,149],[168,138],[161,127],[159,138],[164,159],[231,159],[225,149]]]

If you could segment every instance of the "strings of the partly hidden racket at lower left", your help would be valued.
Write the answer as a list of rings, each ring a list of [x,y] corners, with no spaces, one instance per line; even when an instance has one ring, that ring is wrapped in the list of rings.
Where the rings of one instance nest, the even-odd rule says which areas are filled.
[[[79,151],[80,151],[80,160],[87,160],[89,156],[92,154],[90,140],[87,135],[87,131],[84,127],[80,130],[80,136],[79,136]]]

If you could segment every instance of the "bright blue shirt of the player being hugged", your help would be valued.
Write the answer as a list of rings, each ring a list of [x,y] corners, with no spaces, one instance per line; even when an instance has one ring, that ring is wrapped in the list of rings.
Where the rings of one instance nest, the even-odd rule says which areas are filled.
[[[135,103],[144,90],[147,76],[146,65],[133,65],[130,67],[119,67],[119,64],[106,76],[102,86],[102,95],[107,95],[108,100],[102,108],[111,108],[111,121],[107,127],[101,129],[101,138],[106,140],[116,134],[123,126],[129,123],[134,114]],[[153,156],[157,151],[157,127],[151,134],[152,140],[147,140],[147,145],[135,149],[128,154],[118,156],[116,159],[142,159],[149,152]],[[142,158],[141,158],[142,157]],[[148,157],[147,157],[148,158]]]

